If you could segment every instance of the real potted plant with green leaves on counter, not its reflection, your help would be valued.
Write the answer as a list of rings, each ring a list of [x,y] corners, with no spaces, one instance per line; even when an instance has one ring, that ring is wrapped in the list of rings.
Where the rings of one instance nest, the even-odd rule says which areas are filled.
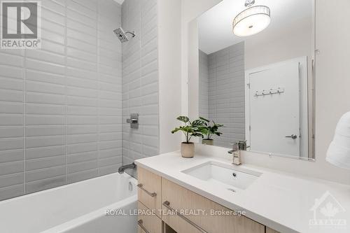
[[[190,119],[186,116],[179,116],[179,118],[176,118],[177,120],[180,120],[185,125],[176,127],[172,130],[172,134],[176,132],[183,132],[186,137],[186,141],[183,141],[181,143],[181,156],[182,157],[193,157],[195,156],[195,144],[193,142],[190,142],[191,138],[193,136],[202,136],[202,134],[199,132],[200,127],[203,127],[204,122],[202,120],[195,120],[193,122],[190,122]]]

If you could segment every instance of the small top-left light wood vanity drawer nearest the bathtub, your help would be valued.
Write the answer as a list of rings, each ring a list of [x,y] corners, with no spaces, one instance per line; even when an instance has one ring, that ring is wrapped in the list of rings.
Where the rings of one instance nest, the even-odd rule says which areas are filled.
[[[144,204],[148,209],[159,210],[162,207],[161,199],[161,183],[162,178],[151,171],[137,168],[137,176],[139,180],[139,201]],[[159,216],[159,211],[157,211]]]

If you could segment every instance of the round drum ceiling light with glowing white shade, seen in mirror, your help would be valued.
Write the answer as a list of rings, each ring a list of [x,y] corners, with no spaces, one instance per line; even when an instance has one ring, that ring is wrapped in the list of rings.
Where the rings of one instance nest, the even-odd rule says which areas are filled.
[[[236,36],[251,36],[269,26],[270,10],[267,6],[253,6],[255,0],[246,0],[246,10],[239,13],[233,20],[233,33]]]

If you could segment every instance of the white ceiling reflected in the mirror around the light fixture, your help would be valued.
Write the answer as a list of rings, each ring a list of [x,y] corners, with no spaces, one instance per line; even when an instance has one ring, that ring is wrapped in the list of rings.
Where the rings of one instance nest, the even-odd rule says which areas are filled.
[[[260,34],[276,35],[279,30],[285,30],[293,22],[300,22],[305,18],[309,18],[311,22],[313,2],[314,0],[255,0],[255,6],[265,5],[271,10],[271,23]],[[197,18],[200,50],[210,54],[244,41],[244,37],[232,33],[232,21],[244,9],[244,0],[223,0],[200,15]],[[256,35],[258,34],[253,36]]]

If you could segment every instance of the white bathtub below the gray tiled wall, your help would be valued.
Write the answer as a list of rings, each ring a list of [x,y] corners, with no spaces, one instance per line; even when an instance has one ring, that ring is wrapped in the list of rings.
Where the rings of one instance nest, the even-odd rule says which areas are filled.
[[[137,209],[136,185],[117,173],[2,201],[0,232],[136,233],[136,215],[106,216],[108,209]]]

